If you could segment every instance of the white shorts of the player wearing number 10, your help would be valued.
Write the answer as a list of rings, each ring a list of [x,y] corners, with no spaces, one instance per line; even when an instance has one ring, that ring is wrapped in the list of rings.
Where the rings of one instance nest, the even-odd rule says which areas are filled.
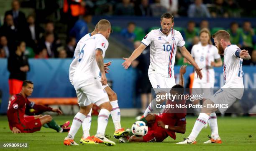
[[[171,90],[172,87],[176,85],[174,77],[169,78],[163,77],[158,73],[150,73],[148,74],[148,78],[156,94],[163,92],[163,89],[168,89],[169,92],[169,90]]]

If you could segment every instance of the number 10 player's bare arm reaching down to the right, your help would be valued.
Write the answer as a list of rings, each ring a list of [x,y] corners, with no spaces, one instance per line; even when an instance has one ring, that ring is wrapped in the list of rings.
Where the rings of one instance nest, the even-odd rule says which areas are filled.
[[[195,67],[195,72],[197,72],[197,78],[199,77],[202,79],[202,68],[200,69],[198,65],[196,64],[195,60],[191,56],[191,54],[187,51],[187,48],[185,46],[179,47],[180,52],[182,55]]]

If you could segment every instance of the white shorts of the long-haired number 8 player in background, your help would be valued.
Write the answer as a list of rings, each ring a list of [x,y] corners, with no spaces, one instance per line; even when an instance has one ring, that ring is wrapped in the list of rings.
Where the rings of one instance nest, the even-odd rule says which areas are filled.
[[[213,94],[214,83],[202,83],[195,81],[192,86],[192,94],[202,94],[204,99],[209,99]]]

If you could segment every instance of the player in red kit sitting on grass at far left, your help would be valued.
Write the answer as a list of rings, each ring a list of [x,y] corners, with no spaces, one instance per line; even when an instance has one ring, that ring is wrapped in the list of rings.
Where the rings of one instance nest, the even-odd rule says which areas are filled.
[[[22,90],[19,94],[13,95],[11,97],[8,109],[7,117],[9,122],[10,130],[13,133],[33,133],[35,131],[40,131],[41,126],[47,124],[51,129],[57,132],[69,131],[69,128],[62,128],[52,119],[50,115],[38,115],[38,116],[25,116],[25,110],[27,107],[41,110],[41,111],[53,111],[58,114],[62,114],[60,109],[52,109],[51,107],[46,107],[42,105],[35,104],[28,100],[33,92],[33,82],[25,80],[22,84]],[[67,126],[67,124],[64,124]]]

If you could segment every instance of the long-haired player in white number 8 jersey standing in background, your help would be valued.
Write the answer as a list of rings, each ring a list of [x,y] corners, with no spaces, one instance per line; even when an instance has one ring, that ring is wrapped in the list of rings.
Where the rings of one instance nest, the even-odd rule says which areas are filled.
[[[194,78],[193,94],[204,94],[203,101],[209,99],[212,95],[211,89],[214,88],[215,73],[213,67],[222,66],[222,60],[218,49],[212,45],[211,34],[207,28],[203,28],[199,33],[200,43],[194,45],[191,55],[195,59],[197,65],[202,68],[203,78],[201,80]],[[216,60],[216,62],[215,62]],[[193,104],[198,104],[200,100],[195,100]]]

